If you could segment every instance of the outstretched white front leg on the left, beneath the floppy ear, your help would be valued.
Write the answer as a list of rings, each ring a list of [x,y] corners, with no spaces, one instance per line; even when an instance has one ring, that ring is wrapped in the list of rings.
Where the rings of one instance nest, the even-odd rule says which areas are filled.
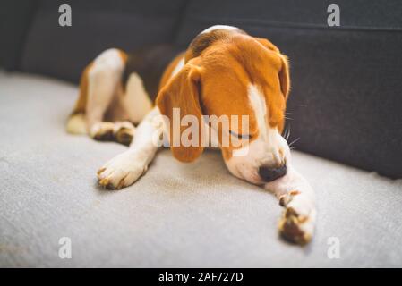
[[[100,185],[108,189],[122,189],[132,185],[147,171],[158,150],[155,139],[163,132],[163,125],[155,120],[159,114],[158,107],[152,109],[138,126],[129,149],[98,170]]]

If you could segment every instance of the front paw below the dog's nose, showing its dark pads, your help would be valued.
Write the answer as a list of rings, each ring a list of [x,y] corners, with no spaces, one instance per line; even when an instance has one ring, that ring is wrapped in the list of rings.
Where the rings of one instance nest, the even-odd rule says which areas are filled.
[[[279,220],[280,235],[293,243],[305,245],[312,240],[316,211],[308,197],[295,191],[279,201],[286,209]],[[285,202],[284,202],[285,200]]]

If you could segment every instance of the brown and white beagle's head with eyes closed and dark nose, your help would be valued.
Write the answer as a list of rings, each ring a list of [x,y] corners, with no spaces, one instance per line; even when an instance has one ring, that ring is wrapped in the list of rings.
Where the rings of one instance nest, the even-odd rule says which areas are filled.
[[[287,57],[267,39],[218,26],[192,40],[184,63],[157,98],[161,113],[170,119],[170,130],[175,130],[174,108],[180,108],[181,118],[192,115],[199,122],[199,144],[172,146],[175,158],[191,162],[201,155],[203,115],[226,115],[229,130],[212,129],[229,171],[256,184],[285,175],[289,147],[280,134],[290,88]],[[232,115],[237,115],[237,123]],[[248,121],[242,115],[248,115]],[[183,135],[186,128],[178,130]],[[222,144],[226,139],[229,144]]]

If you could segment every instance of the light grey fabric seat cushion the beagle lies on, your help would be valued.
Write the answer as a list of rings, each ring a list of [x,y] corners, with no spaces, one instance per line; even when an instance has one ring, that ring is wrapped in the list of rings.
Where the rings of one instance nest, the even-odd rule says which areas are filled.
[[[316,156],[293,153],[318,200],[306,248],[278,238],[278,200],[231,176],[218,152],[182,164],[163,150],[133,186],[98,188],[98,167],[126,147],[65,133],[77,92],[0,73],[0,266],[402,265],[402,181]],[[58,257],[61,237],[71,259]]]

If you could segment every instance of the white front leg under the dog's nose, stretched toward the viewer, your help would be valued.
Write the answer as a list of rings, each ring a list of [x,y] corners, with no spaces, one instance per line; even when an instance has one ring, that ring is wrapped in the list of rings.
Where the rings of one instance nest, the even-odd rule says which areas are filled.
[[[309,182],[287,164],[287,175],[265,184],[273,192],[285,210],[279,221],[283,238],[301,245],[312,240],[316,220],[315,195]]]

